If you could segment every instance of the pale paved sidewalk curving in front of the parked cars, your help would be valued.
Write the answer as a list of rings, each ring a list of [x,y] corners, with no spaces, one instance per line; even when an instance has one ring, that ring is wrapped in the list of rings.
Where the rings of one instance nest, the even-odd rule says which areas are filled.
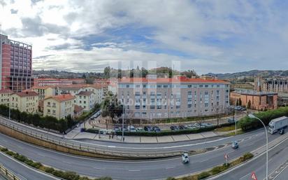
[[[87,123],[88,124],[88,123]],[[84,127],[82,124],[81,127]],[[97,141],[114,141],[120,142],[121,136],[115,137],[114,139],[109,138],[109,135],[89,133],[89,132],[80,132],[81,127],[76,127],[74,130],[66,134],[67,139],[91,139]],[[201,132],[197,134],[180,134],[180,135],[171,135],[171,136],[163,136],[163,137],[125,137],[126,143],[136,143],[136,144],[153,144],[153,143],[168,143],[168,142],[177,142],[177,141],[189,141],[189,140],[196,140],[196,139],[206,139],[210,137],[218,137],[224,134],[229,134],[232,131],[228,132]]]

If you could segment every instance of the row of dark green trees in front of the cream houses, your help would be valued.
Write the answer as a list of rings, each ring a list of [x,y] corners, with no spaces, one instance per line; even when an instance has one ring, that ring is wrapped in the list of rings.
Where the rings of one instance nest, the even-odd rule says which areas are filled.
[[[9,116],[9,107],[0,105],[0,114],[2,116]],[[65,132],[69,128],[75,125],[75,121],[71,116],[66,119],[57,120],[57,118],[52,116],[40,116],[37,113],[26,113],[20,112],[18,109],[10,109],[10,118],[17,120],[18,122],[27,123],[29,125],[34,125],[36,127],[47,128],[50,130],[57,130],[59,132]]]

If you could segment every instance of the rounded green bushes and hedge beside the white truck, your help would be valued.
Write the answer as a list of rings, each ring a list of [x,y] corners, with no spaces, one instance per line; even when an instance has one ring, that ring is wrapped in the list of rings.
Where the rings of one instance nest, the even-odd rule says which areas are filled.
[[[262,111],[254,113],[254,116],[260,118],[265,125],[268,125],[271,120],[279,118],[281,116],[288,116],[288,107],[280,107],[278,109]],[[243,131],[254,130],[259,127],[263,127],[261,122],[255,118],[244,117],[239,120],[239,125]]]

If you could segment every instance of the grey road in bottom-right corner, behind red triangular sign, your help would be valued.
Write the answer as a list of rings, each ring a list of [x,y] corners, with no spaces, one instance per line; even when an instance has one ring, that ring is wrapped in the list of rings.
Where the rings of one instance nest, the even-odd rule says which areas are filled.
[[[288,168],[285,169],[278,177],[272,176],[278,167],[285,164],[288,160],[288,139],[283,141],[280,145],[268,151],[268,174],[273,180],[287,180]],[[215,180],[251,180],[251,174],[255,172],[257,178],[266,178],[266,155],[261,155],[259,158],[252,160],[251,162],[236,168],[228,174],[224,174]]]

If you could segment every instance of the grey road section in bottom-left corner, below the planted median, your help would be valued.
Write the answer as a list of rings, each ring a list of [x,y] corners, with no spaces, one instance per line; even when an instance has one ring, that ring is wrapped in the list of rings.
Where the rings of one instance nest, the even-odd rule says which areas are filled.
[[[0,162],[2,165],[4,165],[7,169],[9,169],[10,172],[13,172],[17,177],[19,177],[22,180],[52,180],[56,179],[52,176],[49,176],[47,174],[38,172],[34,169],[31,169],[25,165],[23,165],[21,162],[17,162],[13,160],[12,158],[7,157],[6,155],[3,155],[3,153],[0,153]],[[3,176],[0,175],[0,180],[6,180]]]

